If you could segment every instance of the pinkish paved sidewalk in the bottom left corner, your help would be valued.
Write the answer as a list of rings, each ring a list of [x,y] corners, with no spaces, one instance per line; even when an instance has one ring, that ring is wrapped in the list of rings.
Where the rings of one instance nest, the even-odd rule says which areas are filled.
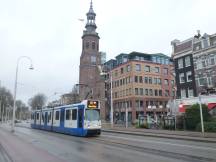
[[[64,160],[51,155],[47,151],[26,142],[18,137],[16,133],[10,132],[8,127],[2,125],[0,126],[0,146],[6,152],[6,154],[3,152],[3,156],[8,155],[7,158],[9,159],[7,161],[0,158],[1,162],[64,162]]]

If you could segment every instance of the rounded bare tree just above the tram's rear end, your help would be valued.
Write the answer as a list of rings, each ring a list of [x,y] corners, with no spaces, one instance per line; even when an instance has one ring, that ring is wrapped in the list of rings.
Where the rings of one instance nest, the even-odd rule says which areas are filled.
[[[30,98],[28,104],[31,106],[32,110],[42,109],[46,104],[47,97],[42,94],[36,94],[34,97]]]

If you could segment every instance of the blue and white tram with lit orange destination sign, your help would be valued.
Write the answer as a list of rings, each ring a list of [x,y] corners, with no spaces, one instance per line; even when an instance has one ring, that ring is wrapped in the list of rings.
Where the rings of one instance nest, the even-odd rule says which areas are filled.
[[[75,136],[100,135],[99,101],[84,100],[79,104],[32,111],[31,127]]]

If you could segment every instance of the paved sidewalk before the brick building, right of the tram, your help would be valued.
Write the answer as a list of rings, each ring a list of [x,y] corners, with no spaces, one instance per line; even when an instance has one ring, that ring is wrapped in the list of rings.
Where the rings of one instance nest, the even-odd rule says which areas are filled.
[[[134,128],[114,125],[113,128],[110,124],[103,123],[102,131],[110,133],[122,133],[137,136],[150,136],[159,138],[172,138],[180,140],[191,140],[199,142],[214,142],[216,143],[216,133],[204,133],[201,132],[191,132],[191,131],[174,131],[174,130],[155,130],[155,129],[144,129],[144,128]]]

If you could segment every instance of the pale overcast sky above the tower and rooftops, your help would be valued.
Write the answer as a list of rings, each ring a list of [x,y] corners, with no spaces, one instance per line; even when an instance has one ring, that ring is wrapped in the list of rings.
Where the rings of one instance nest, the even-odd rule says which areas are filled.
[[[67,93],[79,82],[81,36],[90,0],[0,0],[0,80],[17,99]],[[132,51],[171,55],[170,42],[216,33],[215,0],[93,0],[100,51],[107,60]],[[58,96],[49,97],[49,100]]]

